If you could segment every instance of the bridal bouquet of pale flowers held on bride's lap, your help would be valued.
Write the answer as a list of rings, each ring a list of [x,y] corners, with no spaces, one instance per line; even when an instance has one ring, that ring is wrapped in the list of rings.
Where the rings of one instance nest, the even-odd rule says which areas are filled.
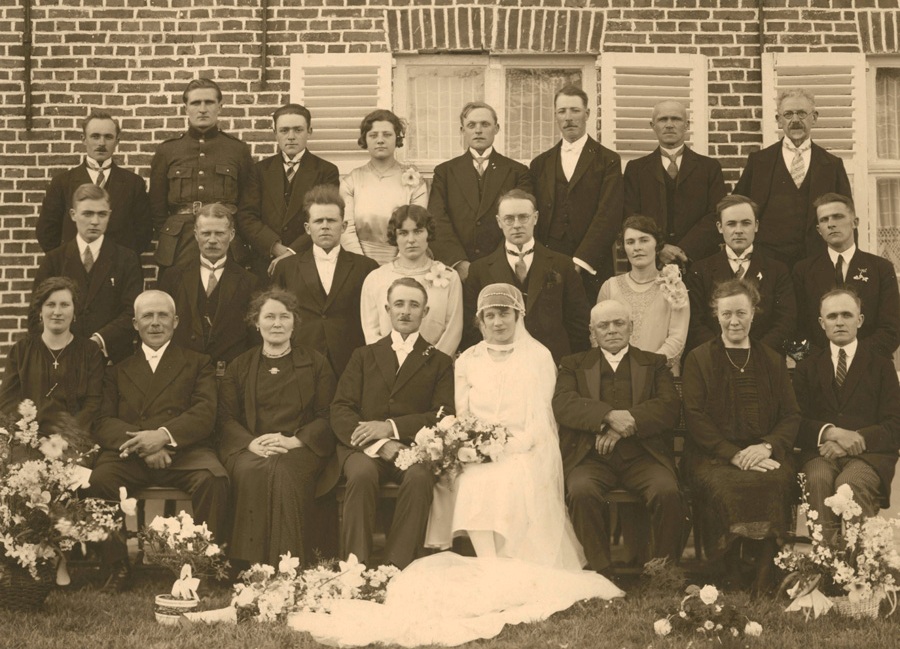
[[[410,448],[400,451],[394,464],[406,470],[413,464],[428,465],[437,476],[455,477],[467,464],[496,462],[503,454],[509,431],[477,417],[448,415],[436,426],[416,433]]]

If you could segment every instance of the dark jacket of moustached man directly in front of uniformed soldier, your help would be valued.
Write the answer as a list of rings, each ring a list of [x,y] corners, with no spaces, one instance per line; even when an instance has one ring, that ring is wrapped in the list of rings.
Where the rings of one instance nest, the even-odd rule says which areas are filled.
[[[175,300],[178,327],[172,340],[182,347],[208,354],[217,361],[230,362],[253,344],[252,330],[244,323],[250,296],[256,290],[256,276],[229,257],[219,280],[219,305],[213,317],[209,339],[203,336],[198,308],[200,261],[189,261],[166,270],[159,289]]]

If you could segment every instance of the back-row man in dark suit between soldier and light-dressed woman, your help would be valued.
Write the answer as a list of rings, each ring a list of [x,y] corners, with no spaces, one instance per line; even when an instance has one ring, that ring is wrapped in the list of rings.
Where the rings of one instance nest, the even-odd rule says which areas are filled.
[[[272,115],[278,153],[253,165],[246,201],[237,213],[240,235],[252,248],[250,269],[267,281],[275,264],[306,250],[303,197],[317,185],[340,185],[336,166],[306,148],[312,116],[299,104],[286,104]]]

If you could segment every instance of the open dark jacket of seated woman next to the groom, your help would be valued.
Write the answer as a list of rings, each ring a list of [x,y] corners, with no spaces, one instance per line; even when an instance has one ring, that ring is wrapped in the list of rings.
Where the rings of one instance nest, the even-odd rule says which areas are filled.
[[[254,347],[238,356],[219,384],[219,458],[228,458],[247,448],[255,438],[274,431],[256,430],[257,376],[261,348]],[[322,354],[305,345],[291,350],[297,378],[297,405],[302,413],[294,435],[321,458],[334,454],[335,437],[328,421],[334,398],[335,378],[331,365]],[[334,485],[326,485],[325,493]],[[321,495],[321,494],[320,494]]]

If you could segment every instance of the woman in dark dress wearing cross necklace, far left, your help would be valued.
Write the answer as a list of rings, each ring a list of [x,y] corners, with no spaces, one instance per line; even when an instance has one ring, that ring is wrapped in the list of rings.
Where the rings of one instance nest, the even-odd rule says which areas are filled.
[[[78,288],[68,277],[41,282],[29,314],[41,332],[17,342],[6,357],[0,411],[14,414],[30,399],[44,434],[73,425],[89,434],[100,408],[103,354],[95,342],[72,334],[77,303]]]

